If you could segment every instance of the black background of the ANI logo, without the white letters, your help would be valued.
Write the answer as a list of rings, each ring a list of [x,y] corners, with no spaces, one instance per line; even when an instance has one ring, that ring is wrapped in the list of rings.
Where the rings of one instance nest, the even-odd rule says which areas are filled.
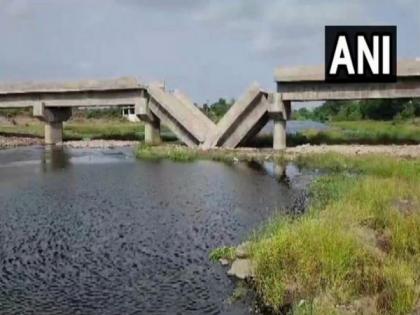
[[[345,35],[356,73],[349,75],[345,66],[339,66],[336,75],[330,75],[338,37]],[[357,36],[365,37],[369,47],[373,47],[373,35],[390,36],[390,74],[372,74],[365,63],[364,74],[357,74]],[[381,42],[381,41],[380,41]],[[380,72],[382,71],[382,45],[380,44]],[[359,62],[362,62],[359,60]],[[396,26],[325,26],[325,81],[349,82],[396,82],[397,81],[397,27]]]

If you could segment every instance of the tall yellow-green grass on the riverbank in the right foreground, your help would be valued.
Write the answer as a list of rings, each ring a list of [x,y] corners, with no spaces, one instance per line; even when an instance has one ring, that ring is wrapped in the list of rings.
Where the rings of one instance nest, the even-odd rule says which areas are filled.
[[[306,214],[273,219],[253,241],[265,303],[296,314],[410,314],[420,306],[420,160],[303,156],[332,170]]]

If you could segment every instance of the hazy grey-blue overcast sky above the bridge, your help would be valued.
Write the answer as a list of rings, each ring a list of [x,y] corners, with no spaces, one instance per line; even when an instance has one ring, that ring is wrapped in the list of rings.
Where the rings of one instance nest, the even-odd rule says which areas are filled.
[[[136,76],[214,101],[322,64],[328,24],[397,25],[399,59],[420,57],[419,0],[0,0],[0,80]]]

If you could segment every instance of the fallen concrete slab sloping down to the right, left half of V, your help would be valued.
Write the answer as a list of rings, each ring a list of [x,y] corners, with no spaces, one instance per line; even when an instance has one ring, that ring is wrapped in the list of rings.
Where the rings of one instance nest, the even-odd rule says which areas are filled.
[[[204,143],[214,124],[180,92],[168,93],[160,86],[148,87],[150,111],[189,147]]]

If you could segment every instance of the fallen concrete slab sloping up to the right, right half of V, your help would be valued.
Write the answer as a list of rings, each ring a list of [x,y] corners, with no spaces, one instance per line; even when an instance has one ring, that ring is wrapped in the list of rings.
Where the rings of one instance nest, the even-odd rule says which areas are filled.
[[[219,121],[216,132],[209,134],[203,148],[235,148],[245,143],[268,122],[268,108],[267,92],[253,84]]]

